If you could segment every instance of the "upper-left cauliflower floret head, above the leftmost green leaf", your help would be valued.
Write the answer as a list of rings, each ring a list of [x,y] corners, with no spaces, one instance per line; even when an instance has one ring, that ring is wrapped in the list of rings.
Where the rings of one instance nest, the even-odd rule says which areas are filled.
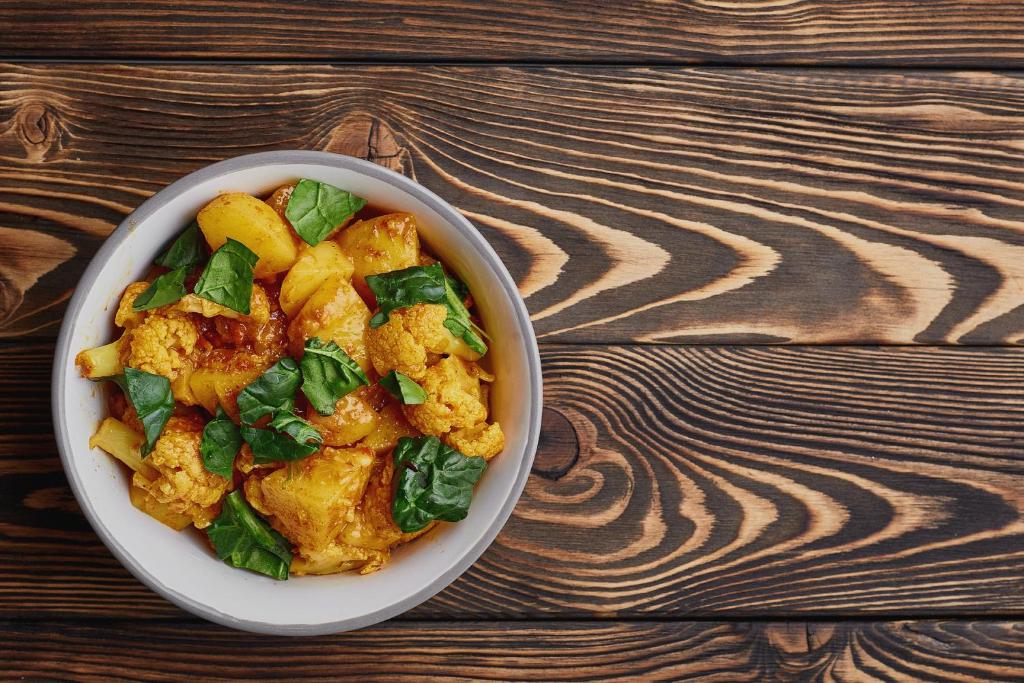
[[[190,368],[188,356],[197,342],[199,330],[190,317],[151,313],[125,332],[121,361],[173,382],[182,369]]]

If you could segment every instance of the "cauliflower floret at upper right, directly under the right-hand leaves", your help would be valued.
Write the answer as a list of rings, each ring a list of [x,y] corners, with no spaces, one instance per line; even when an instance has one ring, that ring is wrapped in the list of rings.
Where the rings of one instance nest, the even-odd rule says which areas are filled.
[[[388,322],[367,331],[367,351],[380,375],[392,370],[419,380],[427,366],[444,353],[467,360],[479,354],[444,327],[447,308],[437,303],[418,303],[391,311]]]

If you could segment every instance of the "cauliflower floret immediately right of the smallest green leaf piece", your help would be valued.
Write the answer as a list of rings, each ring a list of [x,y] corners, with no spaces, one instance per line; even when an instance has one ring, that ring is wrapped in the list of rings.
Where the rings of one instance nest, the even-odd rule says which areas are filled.
[[[420,405],[404,407],[406,417],[414,427],[424,434],[440,436],[487,419],[480,380],[469,366],[450,355],[427,369],[420,382],[427,399]]]

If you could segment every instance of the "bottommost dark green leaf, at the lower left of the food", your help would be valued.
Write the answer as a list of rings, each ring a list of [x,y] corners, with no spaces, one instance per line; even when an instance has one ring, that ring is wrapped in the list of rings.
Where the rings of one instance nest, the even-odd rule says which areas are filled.
[[[220,516],[206,528],[217,557],[232,567],[251,569],[278,581],[288,579],[292,552],[285,537],[260,519],[242,493],[224,497]]]

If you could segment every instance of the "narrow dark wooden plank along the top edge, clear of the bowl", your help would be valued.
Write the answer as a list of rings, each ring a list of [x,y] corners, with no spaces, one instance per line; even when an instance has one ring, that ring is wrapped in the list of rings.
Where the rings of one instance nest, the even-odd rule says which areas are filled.
[[[1024,63],[1018,0],[0,2],[12,57]]]

